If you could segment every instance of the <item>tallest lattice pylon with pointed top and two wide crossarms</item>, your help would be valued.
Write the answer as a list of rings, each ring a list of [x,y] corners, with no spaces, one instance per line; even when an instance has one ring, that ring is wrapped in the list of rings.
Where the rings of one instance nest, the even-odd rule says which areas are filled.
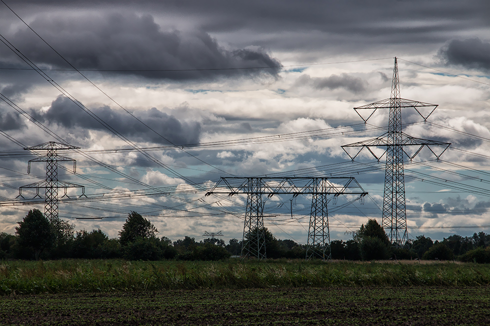
[[[423,118],[425,122],[430,114],[437,107],[436,104],[423,103],[419,101],[407,100],[400,98],[400,85],[398,79],[398,63],[396,57],[394,58],[393,78],[391,81],[391,97],[377,101],[371,104],[355,107],[354,110],[364,120],[364,124],[374,114],[377,109],[388,108],[388,131],[383,135],[357,143],[343,145],[342,148],[354,160],[354,158],[360,153],[363,148],[367,150],[379,161],[379,159],[386,154],[386,166],[384,172],[384,195],[383,195],[383,216],[382,227],[385,229],[389,240],[394,245],[403,245],[407,240],[406,232],[406,211],[405,211],[405,184],[404,184],[404,172],[403,172],[403,154],[405,154],[410,161],[420,152],[420,150],[426,146],[437,158],[449,147],[450,143],[444,143],[434,140],[414,138],[406,135],[402,132],[401,125],[401,109],[402,108],[414,108],[418,114]],[[422,108],[428,108],[430,111],[427,115],[421,113]],[[373,110],[367,118],[363,118],[358,110],[371,109]],[[414,154],[408,154],[405,146],[418,146],[418,149]],[[442,151],[439,154],[434,152],[435,147],[442,147]],[[346,147],[359,147],[359,150],[355,155],[349,154]],[[377,157],[369,147],[386,147],[385,152]]]

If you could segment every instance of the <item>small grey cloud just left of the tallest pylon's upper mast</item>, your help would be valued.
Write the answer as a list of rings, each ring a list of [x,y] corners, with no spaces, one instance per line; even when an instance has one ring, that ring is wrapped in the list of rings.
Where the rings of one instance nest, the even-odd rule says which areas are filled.
[[[365,90],[367,82],[358,77],[350,76],[346,73],[340,75],[331,75],[326,78],[310,77],[305,74],[296,80],[296,85],[309,85],[315,89],[337,89],[344,88],[353,93],[359,93]]]

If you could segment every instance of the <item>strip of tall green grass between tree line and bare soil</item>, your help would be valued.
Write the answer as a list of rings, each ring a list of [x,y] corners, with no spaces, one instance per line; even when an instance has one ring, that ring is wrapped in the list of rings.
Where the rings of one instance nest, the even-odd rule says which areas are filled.
[[[302,260],[0,262],[0,294],[290,287],[488,286],[490,265]]]

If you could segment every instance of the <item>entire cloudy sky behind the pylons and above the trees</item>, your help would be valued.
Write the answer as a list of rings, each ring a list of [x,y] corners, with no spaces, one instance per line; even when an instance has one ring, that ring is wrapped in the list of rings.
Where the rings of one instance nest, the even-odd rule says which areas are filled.
[[[62,141],[80,150],[60,152],[76,174],[60,163],[59,179],[90,199],[59,205],[76,230],[116,237],[137,211],[172,240],[240,239],[246,198],[204,196],[220,177],[354,176],[364,204],[329,206],[331,239],[347,240],[381,222],[384,165],[340,146],[384,132],[386,111],[364,126],[353,107],[389,97],[396,56],[401,97],[439,105],[427,123],[405,110],[404,132],[452,143],[405,164],[410,236],[490,233],[461,228],[490,225],[488,1],[3,1],[3,203],[45,178],[22,148]],[[310,200],[268,199],[266,227],[305,243]],[[3,205],[9,233],[43,209]]]

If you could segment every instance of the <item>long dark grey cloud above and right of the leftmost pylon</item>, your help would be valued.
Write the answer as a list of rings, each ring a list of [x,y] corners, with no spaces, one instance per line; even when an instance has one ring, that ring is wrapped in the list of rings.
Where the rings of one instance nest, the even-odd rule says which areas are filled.
[[[93,108],[91,111],[110,127],[131,139],[136,138],[141,141],[168,144],[165,139],[149,129],[151,128],[174,144],[199,142],[201,130],[199,123],[180,122],[175,117],[156,108],[134,113],[146,126],[128,113],[113,110],[108,106]],[[82,128],[83,130],[91,129],[110,132],[64,96],[59,96],[52,101],[46,112],[34,111],[31,115],[37,120],[55,123],[66,129]]]

